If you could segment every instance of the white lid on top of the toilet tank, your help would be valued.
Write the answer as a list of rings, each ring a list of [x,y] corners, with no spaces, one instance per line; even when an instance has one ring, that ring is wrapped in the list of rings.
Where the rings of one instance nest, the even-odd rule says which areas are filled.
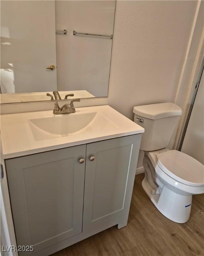
[[[133,113],[148,119],[159,119],[170,116],[181,116],[182,110],[174,103],[157,103],[143,106],[135,106]]]

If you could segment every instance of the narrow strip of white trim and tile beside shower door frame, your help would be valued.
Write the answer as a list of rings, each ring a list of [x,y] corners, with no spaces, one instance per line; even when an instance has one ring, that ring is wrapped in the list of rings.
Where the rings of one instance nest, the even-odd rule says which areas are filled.
[[[182,110],[182,116],[176,133],[174,148],[178,148],[181,140],[192,96],[201,68],[202,58],[204,56],[204,1],[199,1],[195,14],[194,24],[192,26],[191,37],[188,50],[186,52],[183,69],[178,84],[175,97],[175,103]]]

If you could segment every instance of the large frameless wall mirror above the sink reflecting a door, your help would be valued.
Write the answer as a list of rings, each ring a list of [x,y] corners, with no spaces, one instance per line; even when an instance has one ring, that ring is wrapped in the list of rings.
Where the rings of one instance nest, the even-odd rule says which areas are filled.
[[[115,1],[2,0],[1,103],[108,96],[114,15]]]

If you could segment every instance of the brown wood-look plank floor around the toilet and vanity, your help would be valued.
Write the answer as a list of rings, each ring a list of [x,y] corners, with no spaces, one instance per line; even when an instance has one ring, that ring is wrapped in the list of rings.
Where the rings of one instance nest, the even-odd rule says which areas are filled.
[[[135,178],[126,227],[114,226],[52,256],[203,256],[204,194],[193,196],[189,221],[178,224],[155,208],[142,189],[143,178]]]

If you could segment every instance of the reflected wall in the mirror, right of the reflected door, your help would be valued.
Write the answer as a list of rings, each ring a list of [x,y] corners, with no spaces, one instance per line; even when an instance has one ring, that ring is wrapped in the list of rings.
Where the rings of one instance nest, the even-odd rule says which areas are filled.
[[[57,89],[86,90],[95,97],[108,95],[112,40],[76,32],[113,34],[115,1],[55,1]]]

